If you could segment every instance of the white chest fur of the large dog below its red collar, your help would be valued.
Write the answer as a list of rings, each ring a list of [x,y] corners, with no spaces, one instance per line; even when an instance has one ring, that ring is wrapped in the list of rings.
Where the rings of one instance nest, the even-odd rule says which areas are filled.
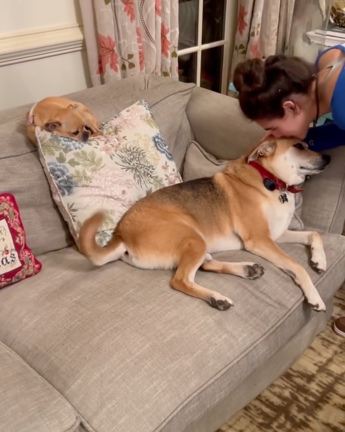
[[[288,198],[287,202],[282,203],[279,199],[281,192],[274,191],[272,199],[263,205],[272,240],[277,240],[288,229],[294,216],[295,196],[290,192],[285,193]]]

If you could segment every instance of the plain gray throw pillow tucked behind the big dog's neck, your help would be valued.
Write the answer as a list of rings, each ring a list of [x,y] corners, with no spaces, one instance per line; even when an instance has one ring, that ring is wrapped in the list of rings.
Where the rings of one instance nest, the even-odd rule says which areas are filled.
[[[200,177],[210,177],[216,172],[223,171],[229,161],[216,159],[213,155],[206,152],[196,141],[191,141],[185,155],[185,165],[183,167],[183,181],[192,180]],[[294,217],[291,219],[289,229],[303,229],[301,219],[303,196],[295,195],[296,209]]]

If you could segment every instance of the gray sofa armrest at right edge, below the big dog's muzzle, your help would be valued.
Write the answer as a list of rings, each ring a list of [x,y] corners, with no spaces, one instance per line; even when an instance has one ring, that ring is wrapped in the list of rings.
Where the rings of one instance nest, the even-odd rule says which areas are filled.
[[[342,234],[345,220],[345,146],[328,150],[326,170],[304,184],[301,218],[305,226]]]

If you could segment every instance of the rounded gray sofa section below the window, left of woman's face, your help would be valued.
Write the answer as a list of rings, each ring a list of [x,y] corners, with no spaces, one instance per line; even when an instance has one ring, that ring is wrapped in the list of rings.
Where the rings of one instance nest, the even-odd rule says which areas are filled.
[[[238,100],[195,87],[186,113],[194,139],[217,159],[237,159],[258,142],[265,131],[247,120]]]

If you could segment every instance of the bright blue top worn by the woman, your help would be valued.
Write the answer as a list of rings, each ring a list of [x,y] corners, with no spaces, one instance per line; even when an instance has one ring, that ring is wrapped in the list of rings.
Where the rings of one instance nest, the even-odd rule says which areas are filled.
[[[325,52],[334,48],[338,48],[345,54],[345,44],[335,45],[319,54],[316,59],[316,65],[318,65],[319,58],[325,54]],[[345,145],[345,61],[339,67],[341,67],[342,70],[335,84],[331,100],[331,111],[334,123],[310,128],[305,138],[305,142],[309,144],[310,149],[318,152]]]

